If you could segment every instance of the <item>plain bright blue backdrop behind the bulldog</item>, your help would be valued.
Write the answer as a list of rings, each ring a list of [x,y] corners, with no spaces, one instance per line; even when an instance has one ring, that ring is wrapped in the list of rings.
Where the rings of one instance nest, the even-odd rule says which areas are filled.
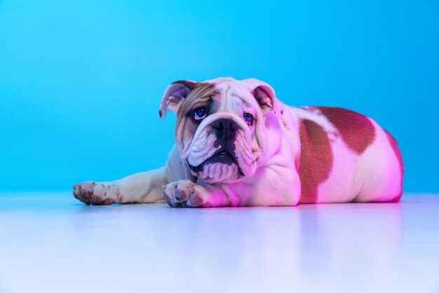
[[[438,192],[439,2],[0,0],[0,191],[161,166],[168,83],[255,77],[292,105],[360,111]]]

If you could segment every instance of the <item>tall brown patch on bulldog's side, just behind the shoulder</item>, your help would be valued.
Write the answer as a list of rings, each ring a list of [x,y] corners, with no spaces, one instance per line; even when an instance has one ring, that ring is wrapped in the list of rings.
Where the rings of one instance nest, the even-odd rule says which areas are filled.
[[[327,133],[316,122],[304,119],[299,125],[302,154],[299,177],[302,193],[299,203],[316,203],[318,185],[332,170],[332,148]]]

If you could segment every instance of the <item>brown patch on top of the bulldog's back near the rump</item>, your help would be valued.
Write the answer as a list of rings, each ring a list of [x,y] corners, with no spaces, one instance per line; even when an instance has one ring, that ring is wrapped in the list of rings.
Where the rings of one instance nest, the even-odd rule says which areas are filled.
[[[374,142],[375,128],[366,116],[342,108],[317,108],[339,130],[349,149],[357,154],[363,154],[367,147]]]

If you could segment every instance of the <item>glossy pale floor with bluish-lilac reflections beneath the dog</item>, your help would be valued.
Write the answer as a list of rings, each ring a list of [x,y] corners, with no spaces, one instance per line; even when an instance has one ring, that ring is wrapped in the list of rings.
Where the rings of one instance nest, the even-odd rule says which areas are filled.
[[[203,210],[3,193],[0,292],[439,292],[439,195]]]

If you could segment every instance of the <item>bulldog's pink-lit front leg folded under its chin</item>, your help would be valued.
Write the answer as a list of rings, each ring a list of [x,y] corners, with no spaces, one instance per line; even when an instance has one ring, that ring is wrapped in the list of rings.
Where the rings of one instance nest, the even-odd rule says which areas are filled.
[[[291,168],[261,168],[254,177],[235,183],[180,180],[163,186],[171,207],[292,206],[300,197],[299,175]]]

